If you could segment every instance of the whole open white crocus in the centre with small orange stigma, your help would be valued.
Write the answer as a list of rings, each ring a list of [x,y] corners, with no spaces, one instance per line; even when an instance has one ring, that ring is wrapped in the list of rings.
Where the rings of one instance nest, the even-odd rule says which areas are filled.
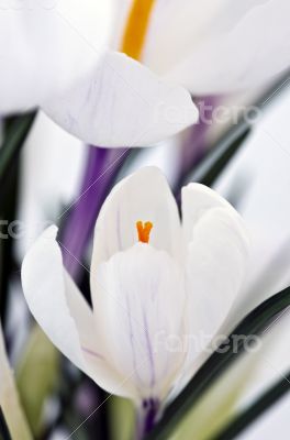
[[[213,338],[238,294],[247,255],[243,221],[216,193],[191,184],[182,190],[180,226],[158,168],[126,177],[96,224],[93,310],[63,266],[56,234],[56,227],[46,230],[23,262],[32,314],[97,384],[157,413],[197,369],[200,333]]]

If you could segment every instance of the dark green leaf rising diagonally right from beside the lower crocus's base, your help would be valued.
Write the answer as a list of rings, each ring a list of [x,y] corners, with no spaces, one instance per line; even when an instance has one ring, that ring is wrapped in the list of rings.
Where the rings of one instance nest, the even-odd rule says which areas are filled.
[[[186,388],[171,403],[164,417],[146,440],[167,440],[178,424],[193,409],[204,393],[220,375],[236,361],[245,348],[244,341],[236,341],[236,334],[258,336],[290,305],[290,287],[261,302],[242,320],[228,337],[230,350],[215,351],[192,377]],[[227,341],[228,342],[228,341]],[[233,350],[235,348],[235,350]]]

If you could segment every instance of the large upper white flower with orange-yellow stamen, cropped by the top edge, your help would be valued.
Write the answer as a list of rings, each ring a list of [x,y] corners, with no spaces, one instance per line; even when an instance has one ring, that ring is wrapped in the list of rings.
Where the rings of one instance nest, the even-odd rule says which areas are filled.
[[[194,95],[260,86],[290,64],[289,12],[287,0],[1,1],[0,111],[41,106],[104,146],[159,141],[197,119],[165,79]]]

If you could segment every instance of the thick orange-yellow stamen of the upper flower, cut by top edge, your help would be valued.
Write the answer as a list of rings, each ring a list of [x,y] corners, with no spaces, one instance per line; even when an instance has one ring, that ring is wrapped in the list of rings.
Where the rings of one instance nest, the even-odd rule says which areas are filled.
[[[121,52],[134,59],[141,59],[154,2],[155,0],[132,0]]]

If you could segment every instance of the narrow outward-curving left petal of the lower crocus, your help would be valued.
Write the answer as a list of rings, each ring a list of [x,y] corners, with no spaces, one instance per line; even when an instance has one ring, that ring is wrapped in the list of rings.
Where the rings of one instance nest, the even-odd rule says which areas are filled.
[[[26,254],[22,285],[34,318],[52,342],[80,370],[85,369],[79,334],[65,297],[62,256],[56,228],[48,228]]]

